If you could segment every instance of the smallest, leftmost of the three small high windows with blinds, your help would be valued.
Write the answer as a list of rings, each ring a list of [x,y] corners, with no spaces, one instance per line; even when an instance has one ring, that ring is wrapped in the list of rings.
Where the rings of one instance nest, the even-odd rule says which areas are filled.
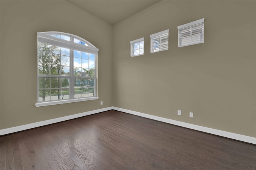
[[[144,54],[144,37],[130,41],[131,44],[131,57]]]

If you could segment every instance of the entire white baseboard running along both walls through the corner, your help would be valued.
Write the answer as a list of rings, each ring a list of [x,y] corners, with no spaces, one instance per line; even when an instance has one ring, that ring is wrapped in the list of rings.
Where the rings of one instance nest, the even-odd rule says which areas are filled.
[[[112,110],[112,109],[117,110],[117,111],[122,111],[122,112],[125,112],[125,113],[130,113],[132,115],[137,115],[137,116],[140,116],[140,117],[146,117],[146,118],[149,118],[149,119],[162,121],[162,122],[165,122],[165,123],[170,123],[172,125],[178,125],[178,126],[181,126],[181,127],[186,127],[186,128],[189,128],[189,129],[194,129],[194,130],[197,130],[197,131],[202,131],[202,132],[210,133],[210,134],[213,134],[213,135],[227,137],[227,138],[230,138],[230,139],[235,139],[235,140],[238,140],[238,141],[243,141],[243,142],[252,143],[252,144],[256,145],[256,138],[255,137],[249,137],[249,136],[240,135],[240,134],[236,134],[236,133],[220,131],[220,130],[217,130],[217,129],[212,129],[212,128],[208,128],[208,127],[193,125],[193,124],[190,124],[190,123],[184,123],[184,122],[181,122],[181,121],[166,119],[166,118],[158,117],[158,116],[154,116],[154,115],[148,115],[148,114],[140,113],[140,112],[137,112],[137,111],[122,109],[122,108],[119,108],[119,107],[106,107],[106,108],[103,108],[103,109],[86,111],[84,113],[78,113],[78,114],[68,115],[68,116],[64,116],[64,117],[58,117],[58,118],[50,119],[50,120],[46,120],[46,121],[30,123],[30,124],[27,124],[27,125],[10,127],[10,128],[7,128],[7,129],[1,129],[0,130],[0,135],[6,135],[6,134],[10,134],[10,133],[15,133],[15,132],[19,132],[19,131],[32,129],[32,128],[35,128],[35,127],[50,125],[52,123],[58,123],[58,122],[61,122],[61,121],[75,119],[75,118],[78,118],[78,117],[92,115],[92,114],[95,114],[95,113],[100,113],[100,112],[108,111],[108,110]]]

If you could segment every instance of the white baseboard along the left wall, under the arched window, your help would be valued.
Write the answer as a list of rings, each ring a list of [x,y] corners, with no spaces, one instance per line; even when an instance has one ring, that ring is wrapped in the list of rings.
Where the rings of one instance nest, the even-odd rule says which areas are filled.
[[[113,109],[113,107],[106,107],[106,108],[103,108],[103,109],[86,111],[86,112],[78,113],[78,114],[74,114],[74,115],[68,115],[68,116],[64,116],[64,117],[58,117],[58,118],[55,118],[55,119],[39,121],[39,122],[36,122],[36,123],[30,123],[30,124],[21,125],[21,126],[10,127],[10,128],[7,128],[7,129],[1,129],[0,130],[0,135],[6,135],[6,134],[9,134],[9,133],[15,133],[15,132],[18,132],[18,131],[24,131],[24,130],[32,129],[32,128],[35,128],[35,127],[50,125],[52,123],[58,123],[58,122],[61,122],[61,121],[75,119],[75,118],[78,118],[78,117],[88,116],[88,115],[92,115],[92,114],[95,114],[95,113],[100,113],[102,111],[108,111],[108,110],[112,110],[112,109]]]

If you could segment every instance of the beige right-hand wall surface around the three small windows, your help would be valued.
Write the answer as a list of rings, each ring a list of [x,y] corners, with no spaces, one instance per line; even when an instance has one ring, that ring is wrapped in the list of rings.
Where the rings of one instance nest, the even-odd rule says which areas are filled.
[[[114,106],[256,137],[255,5],[161,1],[114,25]],[[201,18],[204,43],[178,48],[177,26]],[[151,54],[149,35],[166,29],[169,50]],[[144,55],[130,57],[141,37]]]

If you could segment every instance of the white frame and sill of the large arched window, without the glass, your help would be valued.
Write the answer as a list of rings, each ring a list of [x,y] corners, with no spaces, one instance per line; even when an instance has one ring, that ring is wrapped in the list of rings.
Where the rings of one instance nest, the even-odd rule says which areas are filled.
[[[48,34],[56,34],[56,35],[66,35],[70,37],[70,41],[60,39],[57,37],[50,36]],[[63,33],[58,31],[49,31],[49,32],[38,32],[37,33],[38,41],[37,43],[45,43],[48,45],[54,45],[57,47],[64,47],[70,49],[70,74],[69,76],[64,75],[44,75],[38,73],[38,67],[37,66],[37,103],[35,104],[36,107],[40,106],[50,106],[50,105],[56,105],[56,104],[65,104],[65,103],[72,103],[72,102],[81,102],[81,101],[87,101],[87,100],[97,100],[99,97],[97,96],[97,57],[98,57],[98,48],[96,48],[94,45],[92,45],[90,42],[86,41],[85,39],[78,37],[77,35],[73,35],[70,33]],[[86,43],[86,45],[78,44],[74,42],[74,38]],[[38,45],[37,45],[38,47]],[[74,53],[73,51],[82,51],[90,54],[95,55],[95,67],[94,67],[94,77],[84,77],[84,76],[74,76]],[[37,50],[37,63],[39,62],[39,55]],[[50,78],[69,78],[69,99],[66,100],[52,100],[52,101],[39,101],[39,77],[50,77]],[[72,81],[74,78],[88,78],[88,79],[94,79],[94,96],[92,97],[81,97],[81,98],[75,98],[74,97],[74,81]]]

